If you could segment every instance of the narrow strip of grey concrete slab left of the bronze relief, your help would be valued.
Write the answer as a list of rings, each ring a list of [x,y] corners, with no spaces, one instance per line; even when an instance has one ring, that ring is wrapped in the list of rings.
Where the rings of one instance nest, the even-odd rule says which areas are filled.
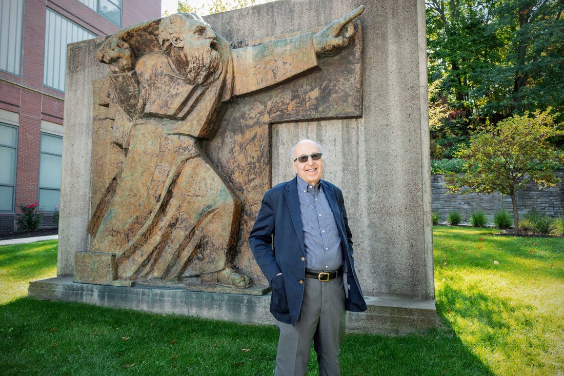
[[[108,74],[94,58],[105,37],[71,43],[67,49],[63,166],[59,218],[57,275],[72,276],[74,252],[89,246],[92,173],[92,81]]]

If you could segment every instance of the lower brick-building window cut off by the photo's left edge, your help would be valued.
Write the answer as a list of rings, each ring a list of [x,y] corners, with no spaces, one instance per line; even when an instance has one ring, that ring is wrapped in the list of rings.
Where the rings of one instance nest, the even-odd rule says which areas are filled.
[[[0,124],[0,212],[14,212],[17,126]]]

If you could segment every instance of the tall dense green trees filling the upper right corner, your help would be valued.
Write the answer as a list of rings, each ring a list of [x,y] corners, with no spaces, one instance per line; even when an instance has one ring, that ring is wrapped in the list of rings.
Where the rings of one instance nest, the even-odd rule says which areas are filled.
[[[465,129],[525,111],[564,111],[561,2],[428,0],[426,24],[429,82],[439,82],[429,103],[442,98]]]

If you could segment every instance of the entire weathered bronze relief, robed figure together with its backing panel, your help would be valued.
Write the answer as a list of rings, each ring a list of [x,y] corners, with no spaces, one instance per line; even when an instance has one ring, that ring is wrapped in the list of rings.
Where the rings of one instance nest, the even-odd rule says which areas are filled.
[[[215,284],[212,290],[226,286],[223,291],[251,286],[254,266],[242,261],[237,268],[234,261],[243,247],[240,233],[257,209],[250,196],[262,195],[268,185],[268,173],[249,173],[270,172],[270,166],[257,167],[267,151],[241,154],[265,141],[265,131],[253,127],[267,129],[284,116],[300,119],[290,108],[299,102],[310,107],[300,111],[303,119],[360,115],[362,44],[360,25],[352,21],[363,11],[359,7],[318,32],[239,48],[195,14],[147,21],[109,37],[96,55],[110,73],[94,84],[91,247],[76,253],[75,281],[203,283]],[[355,34],[354,52],[340,63],[355,66],[327,84],[343,97],[334,112],[318,98],[328,78],[315,76],[318,56],[337,55]],[[289,91],[275,86],[306,76],[311,82]],[[250,93],[258,93],[249,97],[258,102],[234,99]],[[226,142],[233,138],[237,142]],[[251,272],[240,270],[245,268]]]

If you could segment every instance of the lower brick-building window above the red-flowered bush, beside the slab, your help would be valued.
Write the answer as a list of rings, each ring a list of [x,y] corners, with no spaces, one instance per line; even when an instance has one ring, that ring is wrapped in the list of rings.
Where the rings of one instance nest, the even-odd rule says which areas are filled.
[[[39,207],[46,212],[59,206],[63,137],[41,133],[39,155]]]

